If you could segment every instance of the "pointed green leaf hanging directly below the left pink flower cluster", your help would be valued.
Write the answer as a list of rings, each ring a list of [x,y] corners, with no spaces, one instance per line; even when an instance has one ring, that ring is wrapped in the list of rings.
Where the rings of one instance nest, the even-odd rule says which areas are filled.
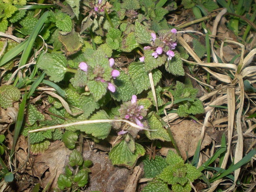
[[[100,81],[88,81],[87,85],[95,101],[100,100],[107,92],[107,83]]]

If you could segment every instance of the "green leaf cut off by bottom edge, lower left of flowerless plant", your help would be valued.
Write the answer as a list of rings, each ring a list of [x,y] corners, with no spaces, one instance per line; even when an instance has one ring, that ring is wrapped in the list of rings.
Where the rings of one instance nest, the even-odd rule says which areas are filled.
[[[161,179],[154,179],[148,182],[148,184],[143,188],[142,192],[171,192],[171,190]]]

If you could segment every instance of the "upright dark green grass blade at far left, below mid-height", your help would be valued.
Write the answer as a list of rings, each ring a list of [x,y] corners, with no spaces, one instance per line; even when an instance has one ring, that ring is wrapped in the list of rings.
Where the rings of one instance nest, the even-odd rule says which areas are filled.
[[[12,149],[11,149],[11,159],[13,158],[13,153],[16,147],[16,143],[19,137],[19,132],[21,130],[21,126],[23,123],[23,119],[24,119],[24,110],[25,110],[25,106],[26,106],[26,100],[27,100],[27,93],[25,92],[23,99],[21,101],[21,104],[19,106],[19,111],[18,111],[18,115],[17,115],[17,121],[15,123],[15,127],[14,127],[14,136],[13,136],[13,142],[12,142]]]

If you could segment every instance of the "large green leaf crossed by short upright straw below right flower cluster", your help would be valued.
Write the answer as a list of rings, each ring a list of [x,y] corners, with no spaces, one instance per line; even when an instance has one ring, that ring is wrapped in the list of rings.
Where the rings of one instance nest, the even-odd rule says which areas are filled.
[[[149,75],[145,70],[144,63],[138,63],[138,62],[131,63],[128,66],[128,73],[130,75],[130,78],[133,81],[133,84],[137,88],[136,95],[141,93],[143,90],[148,90],[150,88]],[[154,85],[156,86],[162,77],[162,73],[158,69],[153,69],[152,76],[153,76]]]

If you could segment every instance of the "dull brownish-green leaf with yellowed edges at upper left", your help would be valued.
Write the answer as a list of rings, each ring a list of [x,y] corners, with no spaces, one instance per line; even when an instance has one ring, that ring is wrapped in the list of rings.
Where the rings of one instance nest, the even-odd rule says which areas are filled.
[[[72,55],[80,50],[83,41],[76,31],[72,30],[71,33],[59,35],[59,41],[65,47],[66,56]]]

